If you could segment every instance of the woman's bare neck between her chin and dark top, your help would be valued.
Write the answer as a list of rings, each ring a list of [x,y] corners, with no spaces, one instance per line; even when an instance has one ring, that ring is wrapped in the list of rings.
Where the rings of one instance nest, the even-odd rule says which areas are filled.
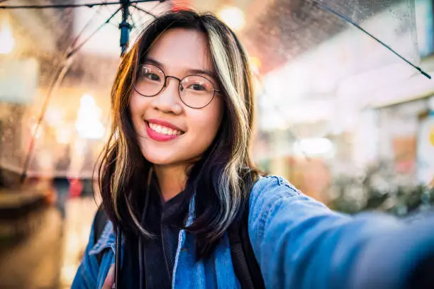
[[[154,165],[163,200],[170,200],[184,189],[187,182],[185,169],[183,165]]]

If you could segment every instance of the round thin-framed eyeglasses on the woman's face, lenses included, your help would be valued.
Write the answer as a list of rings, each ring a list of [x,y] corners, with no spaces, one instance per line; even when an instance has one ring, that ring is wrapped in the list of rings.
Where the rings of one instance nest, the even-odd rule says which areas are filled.
[[[179,98],[190,108],[204,108],[214,98],[216,92],[211,80],[200,75],[188,75],[183,79],[165,75],[159,67],[152,64],[140,65],[133,87],[138,94],[146,97],[156,96],[167,86],[167,79],[179,81]]]

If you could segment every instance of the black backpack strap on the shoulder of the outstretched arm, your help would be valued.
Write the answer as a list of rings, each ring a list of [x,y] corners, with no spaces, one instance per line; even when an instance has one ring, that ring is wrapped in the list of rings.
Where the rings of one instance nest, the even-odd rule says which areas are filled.
[[[228,229],[230,243],[230,255],[232,256],[235,275],[240,281],[243,289],[262,289],[265,288],[261,269],[252,244],[250,243],[248,232],[249,206],[245,205],[243,215],[240,220],[235,220]]]

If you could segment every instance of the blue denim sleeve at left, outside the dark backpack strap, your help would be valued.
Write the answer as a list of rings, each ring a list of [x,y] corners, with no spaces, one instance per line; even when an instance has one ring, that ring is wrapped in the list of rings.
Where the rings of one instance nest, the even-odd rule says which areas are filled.
[[[95,222],[95,220],[94,220]],[[89,234],[89,242],[84,251],[82,263],[75,273],[72,289],[94,289],[97,288],[97,278],[99,264],[94,254],[89,254],[89,251],[94,247],[94,225],[92,223],[91,232]]]

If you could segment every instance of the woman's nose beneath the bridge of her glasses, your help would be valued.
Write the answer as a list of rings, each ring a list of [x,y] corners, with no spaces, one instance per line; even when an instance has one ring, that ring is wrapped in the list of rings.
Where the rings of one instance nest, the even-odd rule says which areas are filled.
[[[154,108],[163,113],[176,115],[182,113],[178,89],[179,80],[174,77],[167,77],[165,87],[160,91],[160,94],[152,98]]]

